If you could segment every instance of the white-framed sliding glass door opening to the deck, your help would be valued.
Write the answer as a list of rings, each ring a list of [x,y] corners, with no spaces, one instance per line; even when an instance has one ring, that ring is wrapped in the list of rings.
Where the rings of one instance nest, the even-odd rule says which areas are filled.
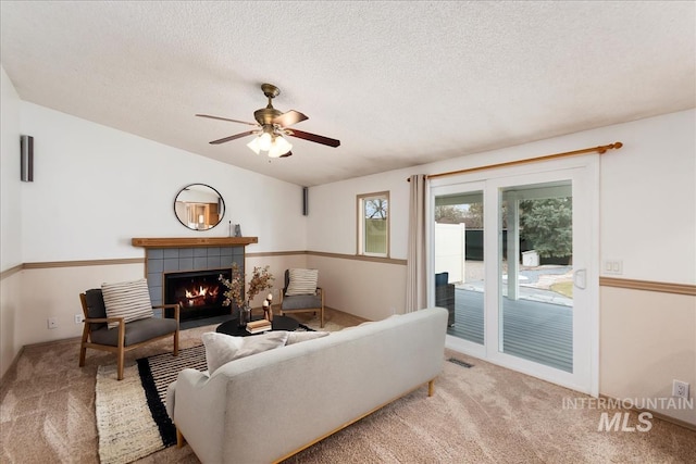
[[[450,310],[449,348],[596,392],[593,160],[431,184],[428,294]]]

